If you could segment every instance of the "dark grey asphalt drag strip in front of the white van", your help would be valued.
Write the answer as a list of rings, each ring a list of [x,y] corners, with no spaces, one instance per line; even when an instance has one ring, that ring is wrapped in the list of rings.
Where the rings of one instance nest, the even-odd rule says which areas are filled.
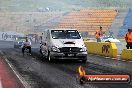
[[[132,88],[131,84],[85,84],[77,82],[76,74],[80,65],[87,74],[128,74],[120,69],[99,65],[94,62],[82,64],[79,61],[57,60],[52,63],[42,60],[38,49],[33,49],[32,56],[23,57],[20,49],[2,50],[20,75],[31,88]],[[132,74],[132,73],[130,73]]]

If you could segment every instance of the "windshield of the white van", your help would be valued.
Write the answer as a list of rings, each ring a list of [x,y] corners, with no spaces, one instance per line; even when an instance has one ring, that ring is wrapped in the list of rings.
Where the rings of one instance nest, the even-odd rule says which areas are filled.
[[[52,30],[53,39],[80,39],[78,31],[76,30]]]

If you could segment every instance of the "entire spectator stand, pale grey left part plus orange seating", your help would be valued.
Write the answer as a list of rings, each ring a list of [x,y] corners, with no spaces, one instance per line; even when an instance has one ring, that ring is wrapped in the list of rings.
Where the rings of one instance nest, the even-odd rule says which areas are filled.
[[[0,31],[15,31],[24,34],[42,32],[47,28],[76,28],[94,35],[99,26],[107,31],[118,12],[114,9],[71,12],[2,12]]]

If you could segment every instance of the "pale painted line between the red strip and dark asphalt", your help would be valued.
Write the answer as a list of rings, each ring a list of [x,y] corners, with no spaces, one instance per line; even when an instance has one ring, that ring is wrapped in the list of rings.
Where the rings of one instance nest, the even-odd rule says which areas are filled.
[[[22,83],[22,85],[24,86],[24,88],[31,88],[31,86],[28,85],[28,83],[24,80],[24,78],[15,70],[15,68],[13,67],[13,65],[10,63],[10,61],[7,59],[7,57],[4,55],[4,53],[1,50],[0,50],[0,53],[3,55],[5,61],[7,62],[7,64],[9,65],[9,67],[12,69],[12,71],[14,72],[14,74],[17,76],[17,78],[20,80],[20,82]]]

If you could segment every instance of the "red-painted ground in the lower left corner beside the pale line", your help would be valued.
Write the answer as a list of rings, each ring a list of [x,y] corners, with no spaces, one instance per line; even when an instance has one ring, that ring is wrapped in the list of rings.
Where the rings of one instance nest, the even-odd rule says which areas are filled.
[[[0,52],[1,53],[1,52]],[[0,88],[24,88],[9,64],[0,55]]]

